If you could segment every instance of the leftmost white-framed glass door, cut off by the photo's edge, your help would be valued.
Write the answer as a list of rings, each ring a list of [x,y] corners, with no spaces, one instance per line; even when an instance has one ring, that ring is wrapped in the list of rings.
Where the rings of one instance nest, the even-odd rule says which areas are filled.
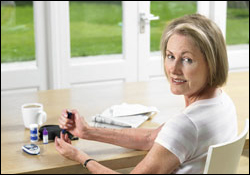
[[[1,93],[47,89],[40,1],[1,1]],[[41,36],[39,38],[39,36]],[[41,41],[41,42],[40,42]]]

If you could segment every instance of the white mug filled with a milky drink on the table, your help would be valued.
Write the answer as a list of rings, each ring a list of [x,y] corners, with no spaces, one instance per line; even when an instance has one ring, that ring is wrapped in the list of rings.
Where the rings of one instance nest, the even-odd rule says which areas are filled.
[[[27,103],[22,105],[22,116],[24,126],[30,128],[30,124],[42,125],[46,122],[47,114],[41,103]]]

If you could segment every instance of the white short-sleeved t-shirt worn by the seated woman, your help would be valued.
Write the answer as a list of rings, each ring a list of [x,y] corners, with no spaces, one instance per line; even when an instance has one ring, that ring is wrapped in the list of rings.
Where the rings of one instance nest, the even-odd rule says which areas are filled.
[[[235,106],[222,93],[211,99],[192,103],[167,121],[155,142],[179,158],[176,174],[203,173],[208,147],[230,141],[238,133]]]

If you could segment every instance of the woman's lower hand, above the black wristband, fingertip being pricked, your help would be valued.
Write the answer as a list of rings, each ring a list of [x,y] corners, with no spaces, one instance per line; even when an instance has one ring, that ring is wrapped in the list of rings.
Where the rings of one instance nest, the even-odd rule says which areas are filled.
[[[62,156],[79,163],[83,163],[85,159],[89,157],[87,154],[80,152],[71,145],[71,140],[69,139],[68,134],[62,134],[62,132],[60,133],[60,138],[55,138],[55,146],[56,150]]]

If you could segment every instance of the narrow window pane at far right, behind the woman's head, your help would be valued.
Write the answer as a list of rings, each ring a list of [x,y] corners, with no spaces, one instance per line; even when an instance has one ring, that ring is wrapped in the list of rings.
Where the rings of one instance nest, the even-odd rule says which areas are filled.
[[[249,1],[227,3],[227,44],[249,44]]]

